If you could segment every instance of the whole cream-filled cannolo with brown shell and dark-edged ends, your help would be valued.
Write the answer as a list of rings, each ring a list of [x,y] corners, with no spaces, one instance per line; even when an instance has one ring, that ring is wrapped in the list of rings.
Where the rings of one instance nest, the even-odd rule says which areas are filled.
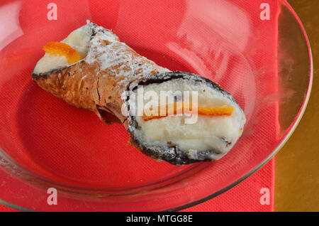
[[[106,124],[123,124],[147,156],[175,165],[218,160],[242,134],[245,114],[232,95],[160,67],[106,28],[88,22],[43,50],[33,80]]]

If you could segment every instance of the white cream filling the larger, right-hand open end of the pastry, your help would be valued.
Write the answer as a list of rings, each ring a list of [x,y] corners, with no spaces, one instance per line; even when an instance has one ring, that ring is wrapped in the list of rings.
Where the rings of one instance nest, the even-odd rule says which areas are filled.
[[[135,134],[142,142],[157,146],[178,146],[179,149],[188,152],[189,158],[196,158],[197,151],[216,150],[220,154],[227,153],[242,134],[242,128],[245,124],[245,115],[242,113],[242,109],[228,97],[224,97],[221,92],[207,85],[178,79],[143,87],[144,94],[150,90],[156,92],[158,97],[160,91],[198,91],[198,104],[208,106],[228,105],[234,107],[235,110],[230,116],[208,117],[198,115],[197,122],[194,124],[185,124],[184,116],[169,116],[149,121],[144,121],[141,116],[136,116],[139,127]],[[135,90],[137,98],[138,93],[138,90]],[[150,99],[147,99],[144,103],[146,104],[149,101]],[[133,104],[133,102],[130,102],[130,104]],[[140,109],[138,110],[138,115],[142,115]],[[226,141],[231,142],[231,144]],[[211,158],[218,159],[221,156],[223,155],[211,156]]]

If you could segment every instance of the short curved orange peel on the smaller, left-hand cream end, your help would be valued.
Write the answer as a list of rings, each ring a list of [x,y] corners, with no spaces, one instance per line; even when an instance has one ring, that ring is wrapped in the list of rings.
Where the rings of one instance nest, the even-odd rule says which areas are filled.
[[[81,60],[77,50],[74,50],[74,48],[65,43],[48,42],[45,46],[43,46],[43,50],[45,50],[45,53],[50,53],[52,55],[64,55],[69,64],[73,64]]]

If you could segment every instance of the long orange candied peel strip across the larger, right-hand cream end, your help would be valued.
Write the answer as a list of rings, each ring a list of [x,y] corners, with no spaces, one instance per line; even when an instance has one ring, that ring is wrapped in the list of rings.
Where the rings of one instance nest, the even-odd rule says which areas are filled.
[[[142,119],[144,121],[148,121],[151,119],[160,119],[164,117],[168,117],[169,115],[181,115],[181,114],[194,114],[192,111],[192,102],[175,102],[172,104],[161,105],[157,109],[157,115],[147,115],[145,112],[152,112],[152,108],[144,111],[142,115]],[[234,111],[234,107],[230,107],[228,105],[223,106],[197,106],[197,114],[216,117],[216,116],[230,116]],[[164,112],[165,114],[162,114]]]

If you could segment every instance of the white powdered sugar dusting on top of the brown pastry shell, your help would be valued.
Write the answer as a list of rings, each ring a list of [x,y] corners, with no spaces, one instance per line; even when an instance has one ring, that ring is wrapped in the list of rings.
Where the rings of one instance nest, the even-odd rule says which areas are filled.
[[[89,64],[98,63],[99,70],[106,70],[109,75],[123,77],[119,85],[150,77],[157,72],[169,71],[135,53],[128,45],[120,42],[112,31],[94,23],[88,23],[86,26],[91,26],[93,33],[89,53],[84,60]]]

